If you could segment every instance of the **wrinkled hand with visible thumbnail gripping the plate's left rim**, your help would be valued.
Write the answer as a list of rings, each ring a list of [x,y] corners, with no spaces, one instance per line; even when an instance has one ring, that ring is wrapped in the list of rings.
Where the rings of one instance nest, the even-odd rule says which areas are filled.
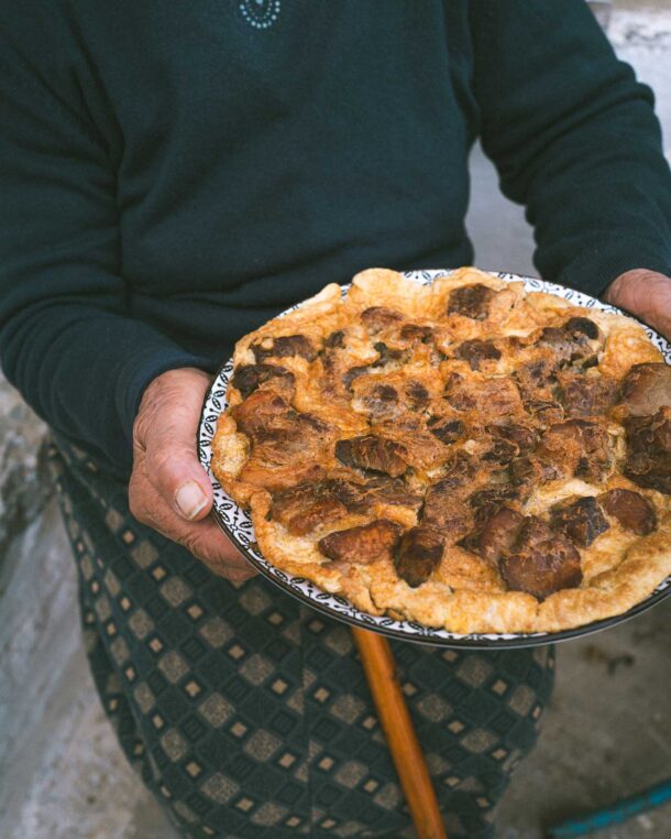
[[[183,368],[162,373],[146,388],[133,426],[130,510],[215,574],[240,582],[256,571],[208,517],[212,488],[196,454],[209,384],[202,370]]]

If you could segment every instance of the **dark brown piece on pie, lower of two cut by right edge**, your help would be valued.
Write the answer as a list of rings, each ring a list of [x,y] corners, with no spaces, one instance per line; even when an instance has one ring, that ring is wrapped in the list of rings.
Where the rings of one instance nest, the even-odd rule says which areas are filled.
[[[653,416],[630,416],[625,421],[627,462],[625,475],[639,487],[671,494],[671,407],[660,407]]]

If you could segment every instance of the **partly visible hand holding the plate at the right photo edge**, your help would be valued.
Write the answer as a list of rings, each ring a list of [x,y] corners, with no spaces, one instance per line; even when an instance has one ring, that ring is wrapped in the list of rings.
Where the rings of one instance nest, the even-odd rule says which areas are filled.
[[[671,340],[671,277],[647,269],[626,271],[610,283],[604,298]]]

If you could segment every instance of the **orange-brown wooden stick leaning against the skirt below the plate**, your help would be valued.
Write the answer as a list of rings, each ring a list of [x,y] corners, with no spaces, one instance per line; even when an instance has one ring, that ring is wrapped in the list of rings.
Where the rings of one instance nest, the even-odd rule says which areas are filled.
[[[448,839],[438,800],[385,638],[352,628],[418,839]]]

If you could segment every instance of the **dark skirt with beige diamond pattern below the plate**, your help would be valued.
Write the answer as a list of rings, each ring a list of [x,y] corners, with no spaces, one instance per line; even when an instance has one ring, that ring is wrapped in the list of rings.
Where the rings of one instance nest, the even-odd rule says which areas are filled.
[[[61,439],[51,464],[97,689],[182,835],[413,837],[349,629],[263,578],[212,575]],[[392,646],[450,839],[491,838],[552,690],[552,647]]]

